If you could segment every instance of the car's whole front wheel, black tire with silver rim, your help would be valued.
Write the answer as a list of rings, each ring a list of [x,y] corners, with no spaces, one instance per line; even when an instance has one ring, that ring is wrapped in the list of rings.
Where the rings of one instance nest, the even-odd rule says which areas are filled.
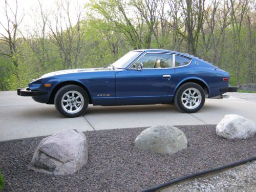
[[[64,100],[66,100],[67,102]],[[57,91],[54,97],[54,104],[55,108],[60,114],[66,117],[78,117],[86,112],[89,104],[89,98],[86,91],[84,91],[81,87],[74,84],[69,84],[67,86],[63,86]],[[65,108],[65,106],[67,107]]]

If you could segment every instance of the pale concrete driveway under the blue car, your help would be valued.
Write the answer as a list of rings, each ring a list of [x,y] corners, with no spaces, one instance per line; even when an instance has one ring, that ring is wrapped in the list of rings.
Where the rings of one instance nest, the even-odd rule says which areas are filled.
[[[256,94],[255,94],[256,97]],[[217,124],[225,114],[256,122],[256,102],[230,97],[206,99],[203,108],[184,114],[174,105],[92,106],[77,118],[65,118],[54,105],[37,103],[16,91],[0,92],[0,141],[45,136],[70,127],[80,131],[146,127],[158,124]]]

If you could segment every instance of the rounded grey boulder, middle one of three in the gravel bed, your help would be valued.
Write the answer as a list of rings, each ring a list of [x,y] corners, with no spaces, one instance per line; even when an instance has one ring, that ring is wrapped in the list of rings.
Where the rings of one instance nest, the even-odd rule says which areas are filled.
[[[135,146],[144,151],[175,154],[187,148],[187,138],[175,126],[158,125],[142,131],[135,139]]]

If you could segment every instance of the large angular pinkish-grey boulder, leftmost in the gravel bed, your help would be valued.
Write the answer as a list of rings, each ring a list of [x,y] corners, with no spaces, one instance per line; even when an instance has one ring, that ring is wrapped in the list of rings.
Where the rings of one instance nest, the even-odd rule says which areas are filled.
[[[42,139],[28,168],[47,174],[69,175],[80,169],[87,160],[86,136],[69,129]]]

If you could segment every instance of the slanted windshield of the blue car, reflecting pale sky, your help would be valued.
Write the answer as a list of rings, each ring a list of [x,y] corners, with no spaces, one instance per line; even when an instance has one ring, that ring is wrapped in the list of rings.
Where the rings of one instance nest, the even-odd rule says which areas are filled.
[[[114,68],[126,68],[135,58],[141,54],[141,51],[130,51],[112,64]]]

